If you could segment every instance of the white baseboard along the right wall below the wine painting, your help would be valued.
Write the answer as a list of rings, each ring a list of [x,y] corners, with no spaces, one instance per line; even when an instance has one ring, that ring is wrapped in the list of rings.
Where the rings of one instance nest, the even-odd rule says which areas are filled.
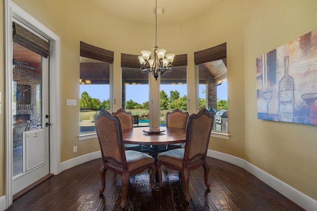
[[[227,155],[221,152],[216,152],[212,150],[208,150],[207,156],[211,158],[216,158],[221,161],[228,162],[230,164],[236,165],[243,169],[246,169],[254,176],[262,180],[264,183],[272,187],[274,190],[278,191],[286,198],[290,199],[303,209],[307,211],[317,211],[317,201],[312,199],[311,197],[303,194],[302,192],[296,190],[295,188],[291,187],[290,185],[282,182],[281,180],[277,179],[276,177],[268,174],[262,169],[250,164],[249,162],[237,158],[231,155]]]

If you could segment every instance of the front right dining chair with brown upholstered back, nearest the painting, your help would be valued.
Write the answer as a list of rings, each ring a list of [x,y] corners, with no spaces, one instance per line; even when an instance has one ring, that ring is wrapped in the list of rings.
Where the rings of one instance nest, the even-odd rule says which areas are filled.
[[[185,148],[169,150],[158,156],[159,184],[162,184],[161,165],[168,169],[178,170],[181,172],[187,202],[190,201],[188,189],[188,172],[190,170],[203,166],[205,184],[208,189],[210,188],[208,182],[209,166],[206,157],[213,120],[213,114],[210,114],[206,108],[200,110],[197,114],[191,114],[186,127]]]

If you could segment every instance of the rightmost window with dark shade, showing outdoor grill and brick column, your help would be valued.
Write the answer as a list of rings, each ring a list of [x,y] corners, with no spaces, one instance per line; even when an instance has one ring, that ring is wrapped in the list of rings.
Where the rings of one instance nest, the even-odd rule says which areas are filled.
[[[212,132],[228,133],[226,43],[195,52],[199,78],[199,109],[215,114]]]

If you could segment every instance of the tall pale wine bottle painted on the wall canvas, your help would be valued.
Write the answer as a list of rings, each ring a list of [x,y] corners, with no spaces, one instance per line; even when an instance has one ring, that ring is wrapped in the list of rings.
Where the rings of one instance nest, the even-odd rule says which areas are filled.
[[[285,74],[278,83],[279,121],[294,122],[294,80],[288,75],[289,56],[284,57]]]

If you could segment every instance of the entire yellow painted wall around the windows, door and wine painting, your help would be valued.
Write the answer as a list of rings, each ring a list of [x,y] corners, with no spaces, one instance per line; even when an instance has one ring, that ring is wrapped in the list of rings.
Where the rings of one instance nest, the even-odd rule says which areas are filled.
[[[61,162],[98,151],[97,139],[78,141],[79,103],[77,107],[65,106],[66,99],[79,102],[79,42],[114,51],[114,99],[120,102],[120,53],[138,55],[153,47],[154,26],[109,17],[87,0],[13,1],[61,38]],[[195,101],[194,52],[227,42],[230,139],[211,138],[210,149],[245,159],[314,199],[316,126],[257,120],[255,59],[316,29],[316,6],[315,0],[223,0],[196,19],[164,26],[158,23],[159,46],[188,54],[191,102]],[[148,33],[140,33],[143,31]],[[3,59],[0,64],[3,68]],[[4,82],[1,74],[0,81]],[[118,108],[117,103],[114,110]],[[189,106],[189,112],[196,112],[194,106]],[[0,152],[1,146],[0,135]],[[73,146],[78,147],[77,153],[72,153]],[[3,156],[0,164],[3,184]]]

